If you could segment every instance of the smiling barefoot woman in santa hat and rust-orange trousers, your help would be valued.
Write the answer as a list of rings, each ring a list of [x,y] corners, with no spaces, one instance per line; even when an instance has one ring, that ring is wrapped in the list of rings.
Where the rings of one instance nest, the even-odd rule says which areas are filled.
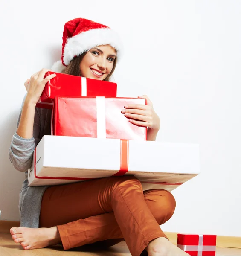
[[[64,26],[62,58],[55,72],[109,81],[121,54],[119,39],[107,26],[78,18]],[[113,245],[125,239],[132,255],[187,255],[168,241],[159,225],[174,213],[175,200],[166,190],[143,193],[134,176],[107,177],[58,186],[29,187],[27,170],[34,148],[50,134],[51,111],[35,108],[47,81],[41,70],[25,83],[27,94],[9,149],[11,163],[25,172],[20,192],[20,226],[12,239],[25,250],[63,244],[64,250],[84,244]],[[147,105],[123,106],[135,125],[148,127],[155,140],[160,119],[147,96]],[[81,145],[80,145],[81,146]]]

